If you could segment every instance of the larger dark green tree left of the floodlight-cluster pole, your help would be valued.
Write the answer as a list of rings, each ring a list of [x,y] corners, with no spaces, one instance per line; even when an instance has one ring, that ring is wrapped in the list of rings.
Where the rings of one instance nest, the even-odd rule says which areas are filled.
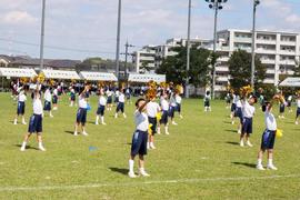
[[[187,71],[187,48],[176,47],[172,51],[176,56],[163,59],[156,72],[166,74],[168,82],[182,83],[189,77],[189,83],[204,87],[209,81],[211,52],[193,46],[190,51],[190,70]]]

